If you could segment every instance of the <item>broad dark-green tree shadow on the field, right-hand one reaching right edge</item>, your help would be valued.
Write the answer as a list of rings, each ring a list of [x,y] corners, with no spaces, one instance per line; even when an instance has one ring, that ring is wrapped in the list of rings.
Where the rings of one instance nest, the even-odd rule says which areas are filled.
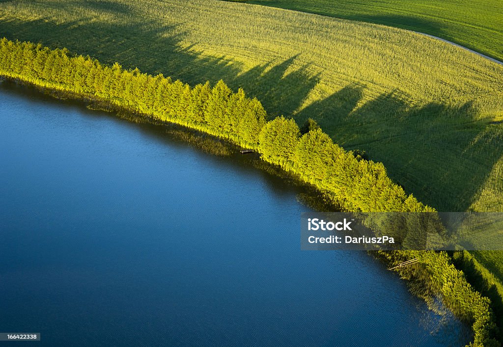
[[[389,177],[418,200],[440,211],[469,209],[503,153],[497,126],[477,121],[471,103],[411,108],[397,91],[356,108],[362,91],[348,85],[296,119],[313,118],[345,149],[382,161]]]

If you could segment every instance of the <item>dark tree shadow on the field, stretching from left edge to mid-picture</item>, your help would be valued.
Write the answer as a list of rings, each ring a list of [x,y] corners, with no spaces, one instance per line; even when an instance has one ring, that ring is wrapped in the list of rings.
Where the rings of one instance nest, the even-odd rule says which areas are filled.
[[[44,6],[65,11],[56,3]],[[248,96],[257,97],[271,117],[291,115],[319,80],[318,75],[308,72],[308,65],[292,68],[297,56],[245,68],[223,56],[204,55],[194,45],[182,47],[188,37],[183,25],[161,25],[135,15],[124,4],[79,1],[72,6],[79,11],[83,8],[81,12],[88,15],[62,24],[46,19],[2,22],[0,37],[40,42],[50,48],[66,47],[72,53],[89,55],[105,64],[117,61],[126,69],[138,67],[150,74],[163,73],[191,85],[207,80],[215,84],[223,79],[232,90],[242,87]],[[105,23],[90,15],[93,12],[116,16],[117,20]]]

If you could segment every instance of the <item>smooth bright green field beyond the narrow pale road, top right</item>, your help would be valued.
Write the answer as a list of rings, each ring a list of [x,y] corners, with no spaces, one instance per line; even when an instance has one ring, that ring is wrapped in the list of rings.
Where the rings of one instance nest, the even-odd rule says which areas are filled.
[[[426,33],[503,61],[499,0],[258,0],[242,1]]]

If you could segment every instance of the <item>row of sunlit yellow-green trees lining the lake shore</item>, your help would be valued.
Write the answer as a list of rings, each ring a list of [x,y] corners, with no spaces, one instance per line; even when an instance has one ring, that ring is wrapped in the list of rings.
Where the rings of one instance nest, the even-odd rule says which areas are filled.
[[[75,97],[105,100],[118,108],[173,122],[258,150],[262,158],[317,187],[329,199],[352,212],[434,212],[393,183],[380,162],[346,151],[312,120],[302,130],[283,116],[267,121],[256,98],[234,93],[222,80],[194,87],[162,74],[152,76],[119,63],[101,64],[89,56],[72,55],[41,44],[0,40],[0,75]],[[396,256],[407,256],[398,252]],[[439,254],[439,253],[434,253]],[[494,322],[489,303],[455,272],[446,274],[443,255],[424,256],[427,271],[452,306],[463,289],[460,309],[473,324],[475,342],[492,341]],[[432,277],[432,278],[433,278]],[[464,280],[464,282],[463,282]],[[449,285],[449,281],[458,285]],[[437,283],[435,282],[435,283]],[[459,305],[458,305],[459,306]]]

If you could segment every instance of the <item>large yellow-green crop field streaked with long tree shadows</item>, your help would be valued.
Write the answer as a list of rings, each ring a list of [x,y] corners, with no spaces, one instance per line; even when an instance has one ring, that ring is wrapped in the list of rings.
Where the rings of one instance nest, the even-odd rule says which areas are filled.
[[[497,31],[498,18],[478,16]],[[466,35],[495,50],[503,42],[501,31],[494,40]],[[214,0],[3,1],[2,36],[192,85],[223,79],[272,116],[315,119],[334,142],[382,161],[394,182],[438,210],[503,211],[503,66],[439,40]],[[462,36],[443,37],[463,44]],[[500,253],[477,258],[503,278]]]

